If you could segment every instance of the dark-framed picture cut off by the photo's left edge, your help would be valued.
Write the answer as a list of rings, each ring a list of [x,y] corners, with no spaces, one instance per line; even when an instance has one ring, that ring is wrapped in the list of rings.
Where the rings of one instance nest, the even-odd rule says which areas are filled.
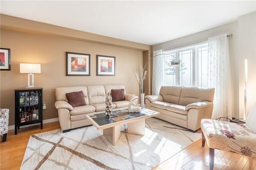
[[[10,48],[0,48],[0,70],[11,70]]]

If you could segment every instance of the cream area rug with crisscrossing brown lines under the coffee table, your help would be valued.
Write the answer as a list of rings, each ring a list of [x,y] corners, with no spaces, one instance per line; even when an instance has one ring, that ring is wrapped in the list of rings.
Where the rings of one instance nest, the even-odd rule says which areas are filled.
[[[201,137],[154,117],[146,119],[144,136],[126,127],[115,146],[93,126],[32,135],[20,169],[152,169]]]

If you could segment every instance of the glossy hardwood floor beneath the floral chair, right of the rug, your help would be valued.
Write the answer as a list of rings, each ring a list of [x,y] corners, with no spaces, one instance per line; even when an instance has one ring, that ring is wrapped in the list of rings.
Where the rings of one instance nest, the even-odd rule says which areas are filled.
[[[208,169],[209,157],[207,144],[201,146],[202,140],[189,145],[186,149],[177,153],[153,170],[163,169]],[[214,169],[256,169],[256,158],[215,150]]]

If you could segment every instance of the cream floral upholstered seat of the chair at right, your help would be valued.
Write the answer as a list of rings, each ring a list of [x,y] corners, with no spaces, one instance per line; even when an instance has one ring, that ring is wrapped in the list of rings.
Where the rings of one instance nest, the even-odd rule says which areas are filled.
[[[209,148],[256,158],[256,132],[246,125],[202,119],[201,129]]]

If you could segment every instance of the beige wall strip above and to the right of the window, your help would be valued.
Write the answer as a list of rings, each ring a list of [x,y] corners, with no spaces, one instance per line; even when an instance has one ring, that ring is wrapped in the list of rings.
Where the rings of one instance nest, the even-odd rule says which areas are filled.
[[[178,39],[170,40],[153,46],[155,50],[165,50],[175,48],[183,45],[194,44],[208,39],[208,37],[221,35],[224,33],[232,33],[233,36],[229,38],[229,55],[231,66],[231,81],[232,91],[234,98],[234,114],[233,116],[239,117],[239,77],[238,77],[238,21],[222,25],[220,27],[212,28],[209,30],[201,31]]]

